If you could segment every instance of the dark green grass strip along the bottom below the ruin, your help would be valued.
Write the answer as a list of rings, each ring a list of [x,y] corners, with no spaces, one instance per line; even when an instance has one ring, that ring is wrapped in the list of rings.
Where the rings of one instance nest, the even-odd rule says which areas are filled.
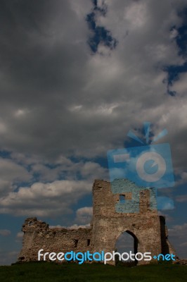
[[[0,281],[10,282],[178,282],[187,281],[187,266],[149,264],[136,267],[104,264],[53,264],[28,262],[0,266]]]

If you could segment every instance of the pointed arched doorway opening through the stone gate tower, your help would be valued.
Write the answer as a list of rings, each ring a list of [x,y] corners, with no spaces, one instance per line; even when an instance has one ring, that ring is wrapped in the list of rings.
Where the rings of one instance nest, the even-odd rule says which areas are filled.
[[[119,252],[120,254],[124,252],[130,254],[131,251],[131,253],[135,255],[136,252],[138,252],[138,238],[136,238],[136,235],[134,235],[134,233],[131,231],[124,231],[116,240],[115,251]],[[134,266],[138,263],[138,261],[136,259],[133,261],[129,258],[126,261],[122,260],[119,262],[119,257],[115,256],[115,263],[124,263]]]

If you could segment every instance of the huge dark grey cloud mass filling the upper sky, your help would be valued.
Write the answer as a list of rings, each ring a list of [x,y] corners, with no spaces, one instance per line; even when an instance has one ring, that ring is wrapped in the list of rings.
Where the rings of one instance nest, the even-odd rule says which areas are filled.
[[[162,67],[184,62],[169,38],[182,23],[176,7],[166,1],[160,13],[153,1],[96,4],[94,24],[119,44],[110,50],[100,42],[93,55],[92,1],[1,1],[1,149],[43,160],[96,157],[122,147],[125,132],[145,120],[170,129],[174,116],[165,111],[176,101],[165,96]]]

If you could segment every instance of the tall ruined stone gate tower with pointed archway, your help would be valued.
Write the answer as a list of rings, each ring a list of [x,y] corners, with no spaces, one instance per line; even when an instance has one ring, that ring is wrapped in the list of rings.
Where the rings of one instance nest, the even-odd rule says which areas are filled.
[[[129,192],[124,194],[127,194],[127,199],[131,199]],[[139,197],[139,212],[129,214],[116,212],[115,207],[120,202],[120,194],[114,195],[111,192],[109,182],[95,181],[93,184],[93,252],[115,250],[117,238],[124,231],[134,237],[137,252],[151,252],[153,255],[159,255],[164,245],[165,249],[169,250],[165,222],[160,221],[156,209],[150,209],[150,191],[141,190]],[[113,264],[113,262],[110,263]],[[145,263],[139,262],[139,264]]]

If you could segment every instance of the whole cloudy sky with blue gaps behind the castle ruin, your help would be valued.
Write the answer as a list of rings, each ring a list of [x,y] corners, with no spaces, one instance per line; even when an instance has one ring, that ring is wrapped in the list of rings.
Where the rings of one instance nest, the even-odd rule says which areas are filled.
[[[187,257],[186,0],[1,0],[0,264],[22,223],[86,226],[107,152],[167,128],[175,185],[169,240]]]

